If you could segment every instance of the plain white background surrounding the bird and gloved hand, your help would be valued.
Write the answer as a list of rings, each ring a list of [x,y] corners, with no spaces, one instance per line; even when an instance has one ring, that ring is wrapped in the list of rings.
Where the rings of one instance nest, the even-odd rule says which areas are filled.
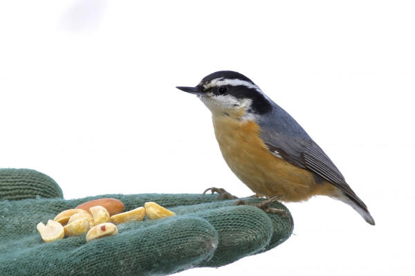
[[[328,198],[289,203],[293,236],[180,275],[414,275],[413,1],[2,1],[0,167],[66,199],[252,194],[192,86],[250,77],[308,131],[376,226]]]

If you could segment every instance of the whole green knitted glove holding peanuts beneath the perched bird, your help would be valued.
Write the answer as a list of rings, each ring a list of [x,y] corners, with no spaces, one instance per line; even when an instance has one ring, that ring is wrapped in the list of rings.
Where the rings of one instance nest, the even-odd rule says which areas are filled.
[[[118,234],[89,242],[82,234],[45,243],[37,232],[37,223],[103,197],[122,201],[125,211],[154,201],[176,216],[122,223]],[[44,174],[0,169],[0,275],[167,275],[224,266],[270,250],[291,235],[291,215],[215,199],[201,194],[105,194],[65,200]],[[281,203],[272,205],[286,210]]]

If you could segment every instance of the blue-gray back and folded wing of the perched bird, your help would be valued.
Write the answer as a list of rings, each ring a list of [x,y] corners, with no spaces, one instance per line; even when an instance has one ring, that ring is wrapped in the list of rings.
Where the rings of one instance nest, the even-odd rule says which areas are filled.
[[[257,122],[261,127],[261,139],[273,154],[297,167],[314,172],[365,206],[329,156],[284,109],[275,104],[273,111],[261,116]]]

